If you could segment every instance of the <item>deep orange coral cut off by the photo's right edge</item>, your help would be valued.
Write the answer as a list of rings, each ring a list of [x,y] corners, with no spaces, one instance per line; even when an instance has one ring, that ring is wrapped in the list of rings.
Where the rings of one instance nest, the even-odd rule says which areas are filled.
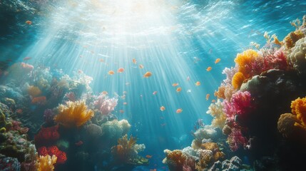
[[[300,124],[306,128],[306,98],[297,98],[291,103],[292,114],[297,116],[297,120],[300,120]]]

